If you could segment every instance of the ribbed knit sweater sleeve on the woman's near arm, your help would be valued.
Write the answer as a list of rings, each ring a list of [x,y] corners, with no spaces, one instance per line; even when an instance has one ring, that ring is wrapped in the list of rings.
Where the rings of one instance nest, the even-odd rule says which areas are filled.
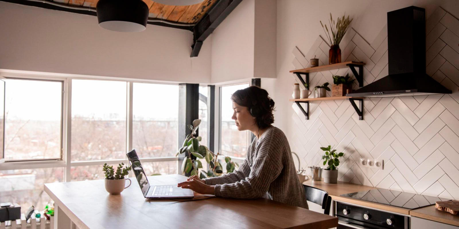
[[[276,149],[273,136],[263,139],[257,150],[249,176],[232,184],[215,185],[215,196],[239,199],[263,197],[282,171],[282,152]]]

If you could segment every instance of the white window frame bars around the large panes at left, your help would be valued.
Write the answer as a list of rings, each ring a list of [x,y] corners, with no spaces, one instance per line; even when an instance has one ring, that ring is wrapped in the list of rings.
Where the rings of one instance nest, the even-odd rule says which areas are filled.
[[[103,165],[107,164],[127,164],[127,158],[124,159],[110,159],[110,160],[94,160],[94,161],[72,161],[71,155],[71,139],[72,139],[72,80],[106,80],[106,81],[120,81],[126,82],[126,152],[132,148],[132,98],[133,98],[133,85],[134,82],[139,83],[154,83],[154,84],[168,84],[178,85],[178,83],[171,83],[166,81],[155,80],[138,80],[131,78],[121,77],[106,77],[106,76],[84,76],[74,74],[58,74],[58,73],[44,73],[35,71],[18,71],[18,70],[5,70],[0,69],[0,77],[6,78],[19,78],[30,80],[53,80],[63,82],[63,95],[62,95],[62,158],[52,160],[34,160],[34,161],[15,161],[0,163],[1,170],[12,169],[43,169],[43,168],[56,168],[62,167],[65,169],[63,182],[71,181],[70,170],[74,166],[88,166],[88,165]],[[140,158],[142,163],[150,162],[168,162],[178,161],[177,157],[158,157],[158,158]],[[177,170],[179,172],[179,169]],[[132,176],[132,173],[129,174]]]

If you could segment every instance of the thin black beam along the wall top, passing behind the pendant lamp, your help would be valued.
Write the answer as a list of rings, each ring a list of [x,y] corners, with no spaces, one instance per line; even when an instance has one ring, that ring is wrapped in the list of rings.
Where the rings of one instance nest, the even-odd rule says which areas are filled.
[[[77,14],[85,14],[85,15],[92,15],[92,16],[97,16],[97,13],[95,11],[90,11],[89,9],[95,10],[95,8],[90,8],[90,7],[84,7],[81,6],[81,10],[77,9],[69,9],[66,7],[61,7],[57,5],[51,5],[48,3],[44,2],[37,2],[37,1],[29,1],[29,0],[0,0],[4,2],[10,2],[10,3],[16,3],[20,5],[29,5],[29,6],[35,6],[35,7],[40,7],[40,8],[45,8],[45,9],[50,9],[50,10],[57,10],[57,11],[66,11],[66,12],[71,12],[71,13],[77,13]],[[58,3],[58,2],[56,2]],[[72,5],[69,5],[72,6]],[[78,7],[78,6],[75,6]],[[193,26],[180,26],[180,25],[171,25],[165,22],[147,22],[147,24],[151,25],[157,25],[157,26],[164,26],[164,27],[171,27],[171,28],[178,28],[178,29],[185,29],[185,30],[193,30]]]

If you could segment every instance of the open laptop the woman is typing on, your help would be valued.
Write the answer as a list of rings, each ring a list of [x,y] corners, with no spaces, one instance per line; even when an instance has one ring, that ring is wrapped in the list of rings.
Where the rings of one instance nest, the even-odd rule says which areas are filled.
[[[177,184],[172,185],[150,185],[146,177],[145,171],[140,164],[139,157],[133,149],[131,152],[126,153],[128,155],[129,164],[132,167],[132,171],[139,182],[140,189],[145,198],[193,198],[194,194],[191,189],[183,189],[177,187]]]

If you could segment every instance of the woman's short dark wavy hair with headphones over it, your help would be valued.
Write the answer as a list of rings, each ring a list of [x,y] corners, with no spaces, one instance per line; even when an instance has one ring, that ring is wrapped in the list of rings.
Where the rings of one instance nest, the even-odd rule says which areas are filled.
[[[247,107],[250,114],[256,118],[260,129],[274,123],[274,100],[268,96],[265,89],[250,86],[237,90],[231,95],[231,100],[240,106]]]

